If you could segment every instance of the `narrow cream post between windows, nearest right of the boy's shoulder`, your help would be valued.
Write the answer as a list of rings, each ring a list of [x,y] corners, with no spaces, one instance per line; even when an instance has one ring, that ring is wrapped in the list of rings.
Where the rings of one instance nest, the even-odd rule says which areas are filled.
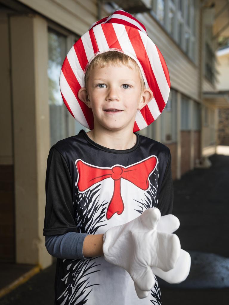
[[[176,177],[180,179],[181,177],[181,93],[177,92],[177,168],[176,168]]]

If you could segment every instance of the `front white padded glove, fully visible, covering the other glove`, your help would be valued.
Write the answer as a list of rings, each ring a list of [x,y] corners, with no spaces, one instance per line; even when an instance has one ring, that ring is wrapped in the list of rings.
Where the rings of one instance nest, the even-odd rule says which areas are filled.
[[[143,292],[149,292],[155,284],[151,266],[169,271],[180,256],[178,236],[157,231],[160,217],[158,208],[149,208],[132,221],[104,233],[105,260],[124,268]]]

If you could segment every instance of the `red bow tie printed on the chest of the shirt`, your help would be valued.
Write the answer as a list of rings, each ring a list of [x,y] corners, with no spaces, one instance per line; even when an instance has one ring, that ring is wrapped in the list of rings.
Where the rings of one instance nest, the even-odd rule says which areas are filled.
[[[141,161],[140,163],[130,165],[129,167],[115,165],[111,168],[101,168],[84,163],[79,159],[76,161],[78,170],[77,187],[79,192],[84,192],[97,182],[111,177],[114,180],[114,192],[106,214],[107,219],[110,219],[115,213],[120,215],[124,210],[124,203],[120,192],[121,178],[132,182],[145,191],[149,188],[148,178],[155,170],[157,163],[157,158],[151,156],[150,158]]]

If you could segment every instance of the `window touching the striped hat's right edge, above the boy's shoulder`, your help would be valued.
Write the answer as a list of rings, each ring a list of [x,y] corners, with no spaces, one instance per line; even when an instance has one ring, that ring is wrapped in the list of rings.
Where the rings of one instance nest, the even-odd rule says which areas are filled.
[[[176,142],[176,91],[170,89],[169,99],[166,103],[165,109],[161,116],[161,141],[173,141]]]

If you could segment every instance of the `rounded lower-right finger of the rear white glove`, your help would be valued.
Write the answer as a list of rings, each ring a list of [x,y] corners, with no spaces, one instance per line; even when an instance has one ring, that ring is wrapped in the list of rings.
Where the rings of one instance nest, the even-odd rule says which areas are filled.
[[[152,267],[153,273],[162,280],[168,282],[169,284],[179,284],[186,280],[191,267],[191,257],[190,254],[183,249],[180,249],[180,257],[176,263],[176,266],[165,272],[157,267]]]

